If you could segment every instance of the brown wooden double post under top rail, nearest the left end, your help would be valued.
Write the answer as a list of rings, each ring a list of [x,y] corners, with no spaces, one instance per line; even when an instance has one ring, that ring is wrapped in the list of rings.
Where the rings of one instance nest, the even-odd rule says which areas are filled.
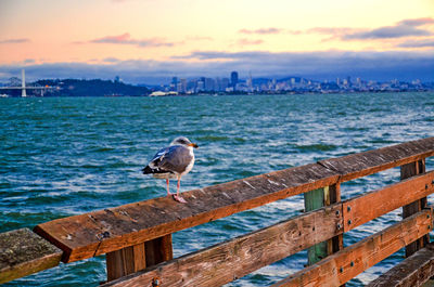
[[[107,282],[173,259],[171,234],[106,253]]]

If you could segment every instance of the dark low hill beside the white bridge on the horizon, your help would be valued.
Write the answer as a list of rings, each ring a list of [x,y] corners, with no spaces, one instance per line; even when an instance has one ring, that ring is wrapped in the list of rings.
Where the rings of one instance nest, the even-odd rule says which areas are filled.
[[[112,80],[79,80],[79,79],[56,79],[38,80],[35,86],[60,87],[60,90],[52,90],[44,96],[140,96],[149,95],[151,92],[146,87],[127,84],[122,81]]]

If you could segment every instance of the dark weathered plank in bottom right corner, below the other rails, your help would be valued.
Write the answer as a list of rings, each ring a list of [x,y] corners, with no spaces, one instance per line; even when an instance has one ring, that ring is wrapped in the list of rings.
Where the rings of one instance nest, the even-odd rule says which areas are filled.
[[[367,287],[418,287],[434,276],[434,245],[429,244]]]

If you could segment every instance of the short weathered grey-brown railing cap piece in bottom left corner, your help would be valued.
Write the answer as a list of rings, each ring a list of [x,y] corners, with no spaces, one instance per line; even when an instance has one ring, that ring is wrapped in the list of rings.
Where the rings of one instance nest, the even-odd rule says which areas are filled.
[[[0,234],[0,284],[59,264],[62,250],[29,229]]]

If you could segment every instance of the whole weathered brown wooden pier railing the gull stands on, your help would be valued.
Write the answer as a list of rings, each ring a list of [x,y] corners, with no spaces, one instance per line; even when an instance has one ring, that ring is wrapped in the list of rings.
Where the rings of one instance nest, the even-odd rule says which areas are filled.
[[[417,276],[419,286],[434,275],[427,236],[433,210],[426,207],[434,171],[425,171],[425,158],[433,155],[429,138],[193,190],[182,194],[188,204],[161,197],[44,222],[34,233],[0,234],[0,283],[60,260],[105,253],[104,286],[220,286],[308,248],[309,266],[273,286],[341,286],[406,247],[400,264],[412,260],[425,268],[413,263],[410,272],[406,265],[406,276],[392,269],[371,285],[398,285],[388,278],[413,283]],[[394,167],[400,167],[401,181],[341,200],[341,183]],[[173,258],[173,233],[302,193],[302,216]],[[399,207],[403,221],[343,247],[344,233]]]

